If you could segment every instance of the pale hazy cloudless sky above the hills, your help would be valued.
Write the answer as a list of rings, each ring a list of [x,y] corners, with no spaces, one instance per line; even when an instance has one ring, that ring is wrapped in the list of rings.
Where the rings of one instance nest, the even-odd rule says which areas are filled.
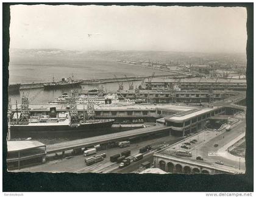
[[[12,5],[10,18],[11,48],[246,52],[242,7]]]

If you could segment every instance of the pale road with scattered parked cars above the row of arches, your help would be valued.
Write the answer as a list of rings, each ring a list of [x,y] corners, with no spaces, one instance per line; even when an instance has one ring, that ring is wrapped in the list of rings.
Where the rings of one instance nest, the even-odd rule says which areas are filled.
[[[183,150],[183,148],[181,148],[182,143],[190,142],[191,140],[196,139],[196,143],[191,143],[191,145],[188,146],[188,150],[192,153],[192,157],[185,158],[188,161],[195,162],[196,157],[201,156],[204,161],[197,160],[197,162],[202,162],[202,164],[210,164],[215,167],[222,167],[226,169],[235,168],[240,170],[246,170],[245,162],[243,159],[239,159],[239,157],[236,157],[236,159],[231,159],[227,156],[226,149],[222,148],[227,145],[227,143],[243,134],[246,130],[246,122],[243,119],[243,116],[239,114],[235,117],[236,119],[239,119],[239,122],[232,125],[231,131],[226,131],[225,129],[221,131],[205,130],[199,134],[196,134],[195,136],[182,140],[182,142],[179,142],[174,146],[160,151],[159,154],[171,154],[171,156],[184,159],[185,157],[176,156],[176,151]],[[215,144],[218,144],[218,147],[215,147]],[[224,151],[219,153],[218,151],[221,150]],[[217,153],[217,155],[215,153]],[[222,161],[224,165],[215,164],[216,161]]]

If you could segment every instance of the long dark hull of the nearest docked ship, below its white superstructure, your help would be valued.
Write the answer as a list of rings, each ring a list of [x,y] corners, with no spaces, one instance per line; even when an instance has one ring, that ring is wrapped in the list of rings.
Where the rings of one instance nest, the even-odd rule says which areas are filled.
[[[62,131],[98,131],[105,128],[110,128],[115,120],[105,122],[85,123],[79,126],[69,125],[11,125],[10,131],[20,133],[24,131],[31,132],[62,132]]]

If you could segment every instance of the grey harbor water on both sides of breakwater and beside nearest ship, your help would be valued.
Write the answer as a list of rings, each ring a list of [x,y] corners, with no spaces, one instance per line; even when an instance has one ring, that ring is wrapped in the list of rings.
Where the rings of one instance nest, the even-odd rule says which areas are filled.
[[[76,61],[69,63],[23,63],[10,64],[9,66],[9,83],[37,83],[49,82],[54,76],[55,81],[63,77],[71,77],[74,75],[76,79],[99,79],[99,78],[113,78],[116,77],[134,77],[134,76],[149,76],[155,72],[156,75],[170,74],[170,72],[156,71],[154,69],[145,69],[143,67],[132,66],[127,64],[117,63],[116,61]],[[141,85],[141,81],[133,81],[134,88]],[[77,88],[80,93],[91,89],[98,89],[101,84],[96,85],[81,85]],[[104,83],[102,84],[105,91],[116,91],[118,83]],[[129,82],[123,82],[124,89],[129,88]],[[29,98],[30,104],[44,104],[61,96],[63,93],[68,93],[71,88],[49,89],[23,89],[20,93],[9,94],[9,98],[13,104],[21,103],[23,93]],[[130,128],[106,128],[102,131],[82,131],[82,132],[23,132],[13,133],[12,140],[31,137],[32,140],[38,140],[45,144],[65,142],[69,140],[82,139],[85,137],[93,137],[102,134],[116,133]]]

